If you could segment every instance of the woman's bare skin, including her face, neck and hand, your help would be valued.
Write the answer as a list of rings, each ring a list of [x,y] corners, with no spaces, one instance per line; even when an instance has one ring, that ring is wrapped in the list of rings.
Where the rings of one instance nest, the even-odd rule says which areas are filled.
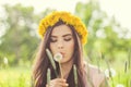
[[[64,24],[56,26],[51,32],[49,47],[52,55],[59,52],[63,57],[60,61],[63,78],[55,78],[50,80],[50,86],[67,87],[68,83],[66,83],[66,79],[73,64],[72,55],[74,51],[74,38],[70,27]]]

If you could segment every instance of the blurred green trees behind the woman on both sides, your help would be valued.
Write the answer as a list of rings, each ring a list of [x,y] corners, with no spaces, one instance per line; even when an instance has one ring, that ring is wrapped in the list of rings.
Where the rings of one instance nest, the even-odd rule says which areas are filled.
[[[0,17],[0,25],[3,26],[0,28],[4,29],[0,37],[0,64],[3,58],[9,60],[10,65],[32,64],[40,42],[38,23],[55,10],[46,9],[36,14],[33,7],[22,4],[4,4],[2,8],[5,17]],[[121,27],[114,16],[109,18],[98,2],[79,2],[74,14],[82,18],[88,29],[88,40],[83,47],[88,59],[98,58],[99,52],[109,61],[118,59],[120,53],[124,59],[130,54],[131,40],[124,37],[128,29]]]

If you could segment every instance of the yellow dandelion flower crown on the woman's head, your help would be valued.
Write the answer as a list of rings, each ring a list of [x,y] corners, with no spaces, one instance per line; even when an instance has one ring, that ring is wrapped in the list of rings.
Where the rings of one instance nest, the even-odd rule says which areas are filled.
[[[82,44],[86,44],[87,41],[87,29],[85,25],[82,23],[82,21],[72,15],[69,12],[52,12],[51,14],[47,15],[45,18],[43,18],[39,23],[38,34],[43,38],[47,28],[49,26],[53,26],[57,22],[63,21],[66,24],[72,25],[76,33],[79,34]]]

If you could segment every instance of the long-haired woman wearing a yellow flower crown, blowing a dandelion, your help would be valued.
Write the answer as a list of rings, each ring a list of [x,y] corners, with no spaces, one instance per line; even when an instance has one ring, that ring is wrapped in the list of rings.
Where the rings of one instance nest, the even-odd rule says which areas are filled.
[[[39,24],[41,45],[36,57],[33,78],[35,87],[106,87],[105,76],[98,70],[84,64],[82,45],[86,42],[87,29],[81,20],[68,12],[52,12]],[[58,62],[56,75],[46,49],[55,55],[62,54],[61,72]],[[76,66],[78,82],[74,82],[73,65]],[[51,80],[47,84],[47,70],[51,71]],[[87,70],[87,72],[86,72]]]

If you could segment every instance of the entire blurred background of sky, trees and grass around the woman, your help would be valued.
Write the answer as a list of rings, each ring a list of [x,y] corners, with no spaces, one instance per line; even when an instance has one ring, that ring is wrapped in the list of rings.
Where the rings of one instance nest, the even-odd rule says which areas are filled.
[[[56,10],[82,18],[88,29],[85,60],[108,74],[110,86],[131,87],[130,4],[130,0],[0,0],[0,87],[31,86],[40,42],[38,23]]]

